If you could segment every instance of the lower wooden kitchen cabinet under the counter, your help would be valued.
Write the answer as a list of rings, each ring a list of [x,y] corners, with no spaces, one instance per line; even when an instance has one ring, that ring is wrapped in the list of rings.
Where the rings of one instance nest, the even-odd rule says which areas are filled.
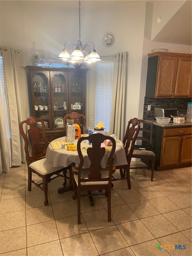
[[[191,166],[192,127],[153,126],[152,145],[156,156],[155,170]]]

